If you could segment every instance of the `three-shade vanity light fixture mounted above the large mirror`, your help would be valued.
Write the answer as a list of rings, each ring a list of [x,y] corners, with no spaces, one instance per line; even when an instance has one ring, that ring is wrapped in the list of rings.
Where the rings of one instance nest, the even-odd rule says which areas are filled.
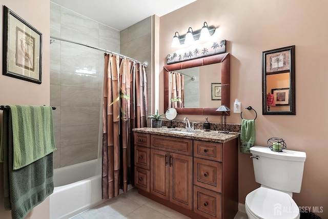
[[[193,31],[191,27],[188,28],[188,32],[184,35],[179,35],[178,32],[175,32],[172,39],[172,48],[177,48],[181,44],[192,44],[194,41],[200,39],[201,41],[208,41],[210,36],[212,36],[215,32],[214,26],[208,26],[206,22],[201,29]]]

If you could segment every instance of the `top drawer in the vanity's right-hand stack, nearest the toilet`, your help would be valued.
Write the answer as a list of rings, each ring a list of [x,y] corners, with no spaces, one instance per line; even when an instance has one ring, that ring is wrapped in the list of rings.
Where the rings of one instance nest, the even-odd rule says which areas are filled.
[[[222,144],[195,140],[194,156],[222,162]]]

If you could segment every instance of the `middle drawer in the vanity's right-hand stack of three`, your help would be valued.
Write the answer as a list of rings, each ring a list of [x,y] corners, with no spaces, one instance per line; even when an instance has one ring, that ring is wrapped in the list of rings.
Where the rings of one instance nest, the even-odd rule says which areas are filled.
[[[222,192],[222,163],[194,157],[194,185]]]

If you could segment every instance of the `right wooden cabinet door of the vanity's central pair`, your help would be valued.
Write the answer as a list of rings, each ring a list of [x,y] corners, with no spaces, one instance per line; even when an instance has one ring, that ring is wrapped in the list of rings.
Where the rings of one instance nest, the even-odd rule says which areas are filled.
[[[192,157],[170,153],[170,201],[192,210]]]

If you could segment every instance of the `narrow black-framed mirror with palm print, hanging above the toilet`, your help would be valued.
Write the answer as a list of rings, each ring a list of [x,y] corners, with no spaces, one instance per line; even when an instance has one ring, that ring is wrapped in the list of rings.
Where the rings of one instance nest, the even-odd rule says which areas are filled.
[[[262,114],[295,115],[295,46],[262,52]]]

